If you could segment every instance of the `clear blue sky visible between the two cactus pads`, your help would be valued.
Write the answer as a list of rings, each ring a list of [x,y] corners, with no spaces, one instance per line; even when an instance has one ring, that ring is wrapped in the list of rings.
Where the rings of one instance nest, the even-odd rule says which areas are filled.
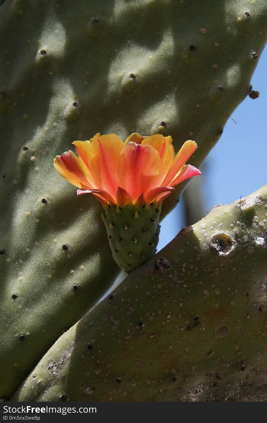
[[[223,135],[205,163],[204,197],[206,209],[229,204],[267,183],[267,47],[259,59],[251,85],[258,99],[247,97],[232,113]],[[163,220],[158,250],[185,225],[181,202]],[[174,227],[176,231],[174,231]]]

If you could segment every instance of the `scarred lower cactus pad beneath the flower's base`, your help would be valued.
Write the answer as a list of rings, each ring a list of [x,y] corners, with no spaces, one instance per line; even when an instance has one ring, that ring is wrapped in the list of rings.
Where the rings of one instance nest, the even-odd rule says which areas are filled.
[[[267,185],[217,206],[64,333],[13,401],[266,401]]]

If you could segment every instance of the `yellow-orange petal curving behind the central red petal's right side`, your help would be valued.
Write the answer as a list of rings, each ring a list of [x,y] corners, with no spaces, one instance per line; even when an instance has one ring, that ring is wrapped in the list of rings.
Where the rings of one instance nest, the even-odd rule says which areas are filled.
[[[155,180],[154,186],[158,187],[165,179],[174,159],[174,148],[172,145],[172,137],[163,137],[163,135],[155,134],[145,137],[142,146],[150,145],[158,151],[161,157],[161,169],[158,178]]]

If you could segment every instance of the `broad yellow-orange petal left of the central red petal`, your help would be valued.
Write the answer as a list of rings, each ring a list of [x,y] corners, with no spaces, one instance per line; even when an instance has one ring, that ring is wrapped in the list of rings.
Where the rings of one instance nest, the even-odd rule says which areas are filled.
[[[82,152],[83,157],[87,153],[84,162],[90,169],[95,183],[114,196],[119,184],[117,168],[123,141],[114,134],[96,134],[89,143],[84,143],[83,146],[81,143],[83,142],[75,141],[74,145],[78,152]]]

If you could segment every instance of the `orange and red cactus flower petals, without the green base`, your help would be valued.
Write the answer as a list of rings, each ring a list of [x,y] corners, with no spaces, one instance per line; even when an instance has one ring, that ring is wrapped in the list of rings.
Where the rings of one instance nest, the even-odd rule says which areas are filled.
[[[77,194],[92,193],[102,203],[143,206],[162,200],[177,184],[200,171],[185,162],[196,150],[188,140],[174,157],[172,137],[131,134],[125,143],[117,135],[96,134],[90,141],[75,141],[72,151],[54,159],[57,172],[78,187]]]

